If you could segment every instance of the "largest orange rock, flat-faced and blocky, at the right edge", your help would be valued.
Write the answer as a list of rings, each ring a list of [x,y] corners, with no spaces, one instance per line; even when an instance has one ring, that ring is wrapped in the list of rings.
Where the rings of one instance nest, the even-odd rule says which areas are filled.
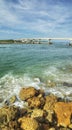
[[[55,104],[54,110],[58,119],[57,125],[63,127],[69,126],[72,114],[72,102],[70,103],[57,102]]]

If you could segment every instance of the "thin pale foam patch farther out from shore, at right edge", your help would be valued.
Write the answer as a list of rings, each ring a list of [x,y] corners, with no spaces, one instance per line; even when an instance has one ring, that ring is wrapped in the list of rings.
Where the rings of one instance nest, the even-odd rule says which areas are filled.
[[[55,66],[51,66],[48,69],[44,70],[43,74],[46,78],[52,79],[56,82],[60,81],[72,83],[72,73],[64,73]]]

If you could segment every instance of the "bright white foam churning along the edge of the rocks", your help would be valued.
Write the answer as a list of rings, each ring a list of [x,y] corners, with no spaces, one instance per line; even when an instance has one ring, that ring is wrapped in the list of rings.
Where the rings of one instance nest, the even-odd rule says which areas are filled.
[[[56,71],[56,73],[55,73],[55,71]],[[53,68],[53,72],[55,74],[58,73],[57,69],[54,69],[54,68]],[[63,78],[63,77],[61,77],[62,74],[60,77],[59,76],[58,76],[58,79],[55,76],[55,81],[57,81],[57,80],[61,81],[61,79]],[[64,77],[63,81],[66,81],[65,80],[66,78],[68,79],[68,76]],[[68,79],[68,81],[69,81],[69,79]],[[19,96],[20,89],[23,87],[30,87],[30,86],[35,87],[36,89],[43,89],[46,93],[53,93],[59,97],[65,97],[65,96],[69,97],[69,94],[72,93],[71,87],[64,87],[64,86],[61,86],[61,84],[60,84],[58,87],[56,86],[54,88],[46,88],[46,84],[42,83],[40,81],[40,79],[37,77],[32,79],[28,75],[15,76],[15,75],[9,73],[9,74],[6,74],[5,76],[3,76],[2,78],[0,78],[0,97],[2,97],[4,100],[7,100],[12,95],[16,95],[17,98],[19,99],[18,96]],[[15,103],[15,105],[22,107],[24,104],[19,99],[19,101],[17,101]]]

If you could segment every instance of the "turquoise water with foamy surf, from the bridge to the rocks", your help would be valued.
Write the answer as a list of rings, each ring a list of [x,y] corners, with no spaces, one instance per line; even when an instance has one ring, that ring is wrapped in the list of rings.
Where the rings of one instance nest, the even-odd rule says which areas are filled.
[[[54,88],[47,83],[54,82]],[[66,82],[69,86],[62,86]],[[48,44],[0,44],[0,96],[19,92],[23,86],[72,93],[72,47],[66,42]],[[67,91],[66,91],[67,90]]]

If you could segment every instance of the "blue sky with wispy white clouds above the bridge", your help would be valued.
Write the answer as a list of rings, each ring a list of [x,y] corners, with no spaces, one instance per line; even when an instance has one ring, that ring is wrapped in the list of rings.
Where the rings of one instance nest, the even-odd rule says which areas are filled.
[[[0,39],[72,37],[72,0],[0,0]]]

